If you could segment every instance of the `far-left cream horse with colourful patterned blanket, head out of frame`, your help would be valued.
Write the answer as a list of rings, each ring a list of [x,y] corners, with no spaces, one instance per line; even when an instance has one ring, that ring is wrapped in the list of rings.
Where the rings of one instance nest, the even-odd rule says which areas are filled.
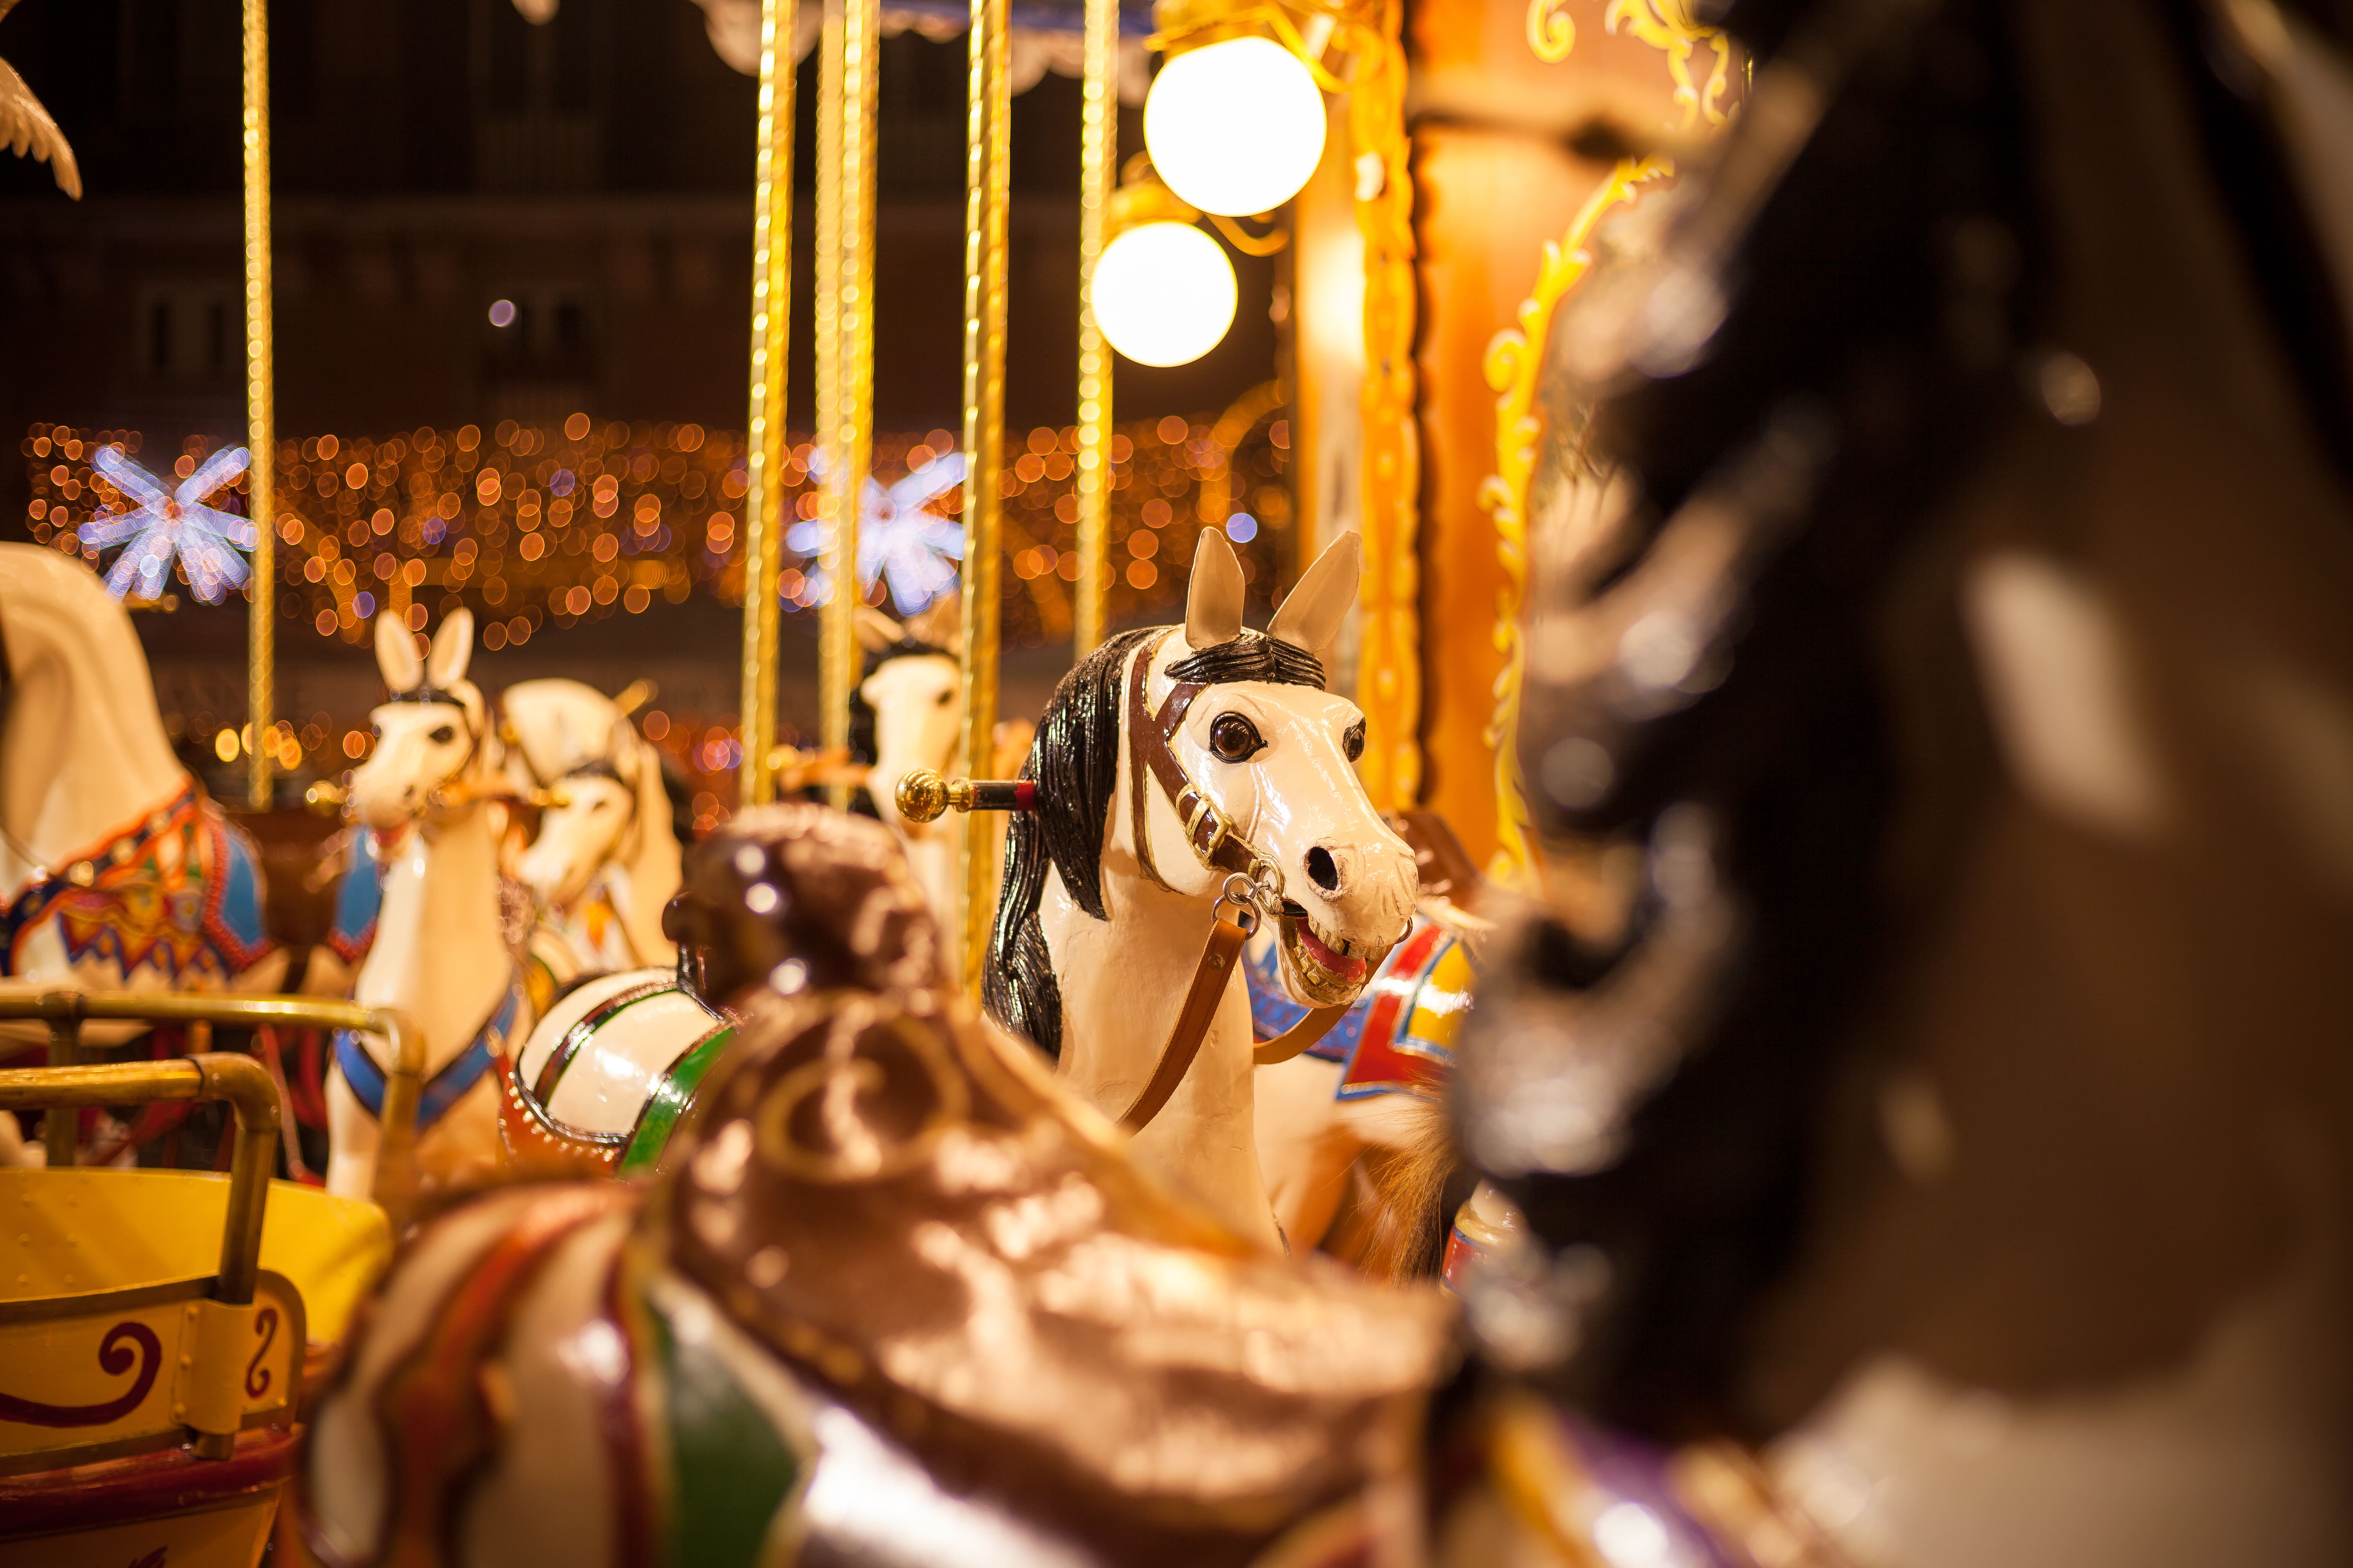
[[[172,755],[129,614],[80,562],[0,545],[0,983],[268,992],[287,954],[261,907],[254,842]]]

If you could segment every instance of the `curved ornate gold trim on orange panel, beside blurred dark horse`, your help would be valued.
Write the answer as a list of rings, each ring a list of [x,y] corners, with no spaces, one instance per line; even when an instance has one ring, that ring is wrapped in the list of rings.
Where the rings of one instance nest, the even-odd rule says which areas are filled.
[[[1494,517],[1497,559],[1504,564],[1504,588],[1494,607],[1494,644],[1504,654],[1504,672],[1494,677],[1494,717],[1482,736],[1494,750],[1497,851],[1487,877],[1508,886],[1534,884],[1527,799],[1520,780],[1520,748],[1513,733],[1520,724],[1520,679],[1527,644],[1520,614],[1527,607],[1527,491],[1537,475],[1537,440],[1544,421],[1537,414],[1537,378],[1544,371],[1544,334],[1553,308],[1593,266],[1586,240],[1612,207],[1633,202],[1654,179],[1673,174],[1664,158],[1621,158],[1600,190],[1586,197],[1560,242],[1544,242],[1534,292],[1520,301],[1520,324],[1506,327],[1487,343],[1487,386],[1494,400],[1494,465],[1478,489],[1480,508]]]

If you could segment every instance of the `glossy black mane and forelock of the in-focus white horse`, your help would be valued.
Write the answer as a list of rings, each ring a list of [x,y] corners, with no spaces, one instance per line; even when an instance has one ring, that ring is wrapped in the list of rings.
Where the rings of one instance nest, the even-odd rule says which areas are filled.
[[[1061,1056],[1061,985],[1054,957],[1038,924],[1045,872],[1094,919],[1104,912],[1104,832],[1111,827],[1111,792],[1120,780],[1120,705],[1127,701],[1127,663],[1136,646],[1167,628],[1120,632],[1087,654],[1054,686],[1038,738],[1021,776],[1038,783],[1038,809],[1014,816],[1005,835],[1005,896],[988,943],[981,1001],[1007,1030],[1028,1034],[1047,1056]],[[1174,679],[1217,686],[1228,682],[1275,682],[1322,686],[1313,654],[1259,632],[1242,632],[1167,670]]]

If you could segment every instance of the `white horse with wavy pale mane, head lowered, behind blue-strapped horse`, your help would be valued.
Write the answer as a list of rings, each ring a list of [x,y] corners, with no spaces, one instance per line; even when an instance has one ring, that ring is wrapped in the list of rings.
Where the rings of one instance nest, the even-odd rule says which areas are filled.
[[[678,891],[678,835],[661,757],[595,686],[529,679],[499,696],[508,783],[548,792],[515,875],[541,924],[572,950],[572,971],[678,961],[661,905]]]

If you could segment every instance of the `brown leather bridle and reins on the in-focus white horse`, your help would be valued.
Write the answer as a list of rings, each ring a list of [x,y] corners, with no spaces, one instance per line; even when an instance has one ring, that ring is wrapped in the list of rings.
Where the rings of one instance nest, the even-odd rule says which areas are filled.
[[[1207,691],[1207,686],[1200,682],[1176,682],[1167,698],[1162,698],[1160,712],[1151,710],[1148,684],[1153,658],[1172,635],[1174,628],[1144,644],[1127,670],[1127,771],[1132,780],[1129,813],[1136,860],[1144,865],[1144,875],[1158,886],[1176,891],[1160,875],[1160,867],[1153,865],[1151,797],[1144,790],[1144,776],[1151,773],[1176,811],[1193,856],[1205,870],[1226,872],[1226,882],[1217,893],[1217,905],[1209,910],[1209,940],[1200,952],[1200,964],[1193,966],[1193,983],[1186,987],[1176,1025],[1160,1048],[1160,1063],[1134,1103],[1120,1112],[1120,1126],[1129,1133],[1141,1131],[1158,1117],[1169,1095],[1176,1093],[1176,1086],[1184,1084],[1184,1074],[1193,1070],[1193,1058],[1200,1056],[1200,1041],[1209,1034],[1217,1006],[1226,997],[1226,983],[1233,980],[1242,945],[1257,933],[1259,922],[1282,919],[1282,867],[1261,853],[1224,809],[1193,783],[1193,776],[1186,773],[1184,762],[1169,745],[1176,731],[1184,729],[1184,717],[1193,708],[1193,698]],[[1313,1009],[1285,1034],[1254,1046],[1252,1063],[1259,1067],[1287,1063],[1322,1039],[1351,1006],[1344,1001],[1339,1006]]]

